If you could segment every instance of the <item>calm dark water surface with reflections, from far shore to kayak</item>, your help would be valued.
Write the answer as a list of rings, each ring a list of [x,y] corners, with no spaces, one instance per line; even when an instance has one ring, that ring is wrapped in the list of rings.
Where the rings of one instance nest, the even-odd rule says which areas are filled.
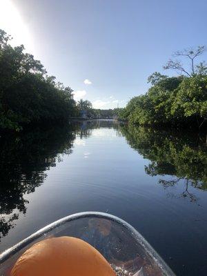
[[[206,275],[206,137],[72,123],[0,138],[0,251],[87,210],[128,221],[177,275]]]

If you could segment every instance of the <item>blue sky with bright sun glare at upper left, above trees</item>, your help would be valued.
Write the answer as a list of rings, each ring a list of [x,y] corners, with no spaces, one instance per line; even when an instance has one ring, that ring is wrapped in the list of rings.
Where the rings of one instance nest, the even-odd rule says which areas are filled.
[[[176,50],[207,46],[206,0],[0,0],[0,28],[95,108],[126,106]],[[207,60],[207,55],[201,59]]]

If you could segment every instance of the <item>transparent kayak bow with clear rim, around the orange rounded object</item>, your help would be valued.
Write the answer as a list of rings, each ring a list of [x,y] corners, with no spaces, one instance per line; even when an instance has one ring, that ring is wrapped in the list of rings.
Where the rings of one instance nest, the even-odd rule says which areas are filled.
[[[174,275],[135,228],[118,217],[86,212],[59,219],[0,255],[0,275],[9,275],[17,259],[30,247],[50,237],[71,236],[88,242],[108,260],[117,275]]]

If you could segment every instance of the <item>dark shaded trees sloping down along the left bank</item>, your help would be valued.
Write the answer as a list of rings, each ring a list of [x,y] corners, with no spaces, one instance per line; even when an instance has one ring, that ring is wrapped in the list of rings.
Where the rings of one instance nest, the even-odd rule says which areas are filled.
[[[12,47],[10,39],[0,30],[0,128],[77,116],[72,89],[48,76],[22,45]]]

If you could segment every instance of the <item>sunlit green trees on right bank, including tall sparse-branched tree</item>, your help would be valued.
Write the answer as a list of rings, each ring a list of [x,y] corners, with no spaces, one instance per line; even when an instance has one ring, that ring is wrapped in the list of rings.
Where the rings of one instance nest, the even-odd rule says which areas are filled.
[[[195,50],[176,52],[176,57],[190,59],[190,70],[181,61],[168,61],[165,69],[181,72],[178,77],[153,73],[148,82],[151,87],[145,95],[133,97],[119,118],[139,125],[198,126],[207,119],[207,66],[195,64],[195,58],[204,52],[204,46]],[[185,74],[185,75],[184,75]]]

